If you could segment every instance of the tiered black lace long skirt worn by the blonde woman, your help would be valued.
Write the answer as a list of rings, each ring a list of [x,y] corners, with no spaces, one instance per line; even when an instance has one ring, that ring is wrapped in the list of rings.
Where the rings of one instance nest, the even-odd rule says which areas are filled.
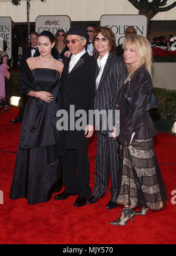
[[[132,140],[121,146],[118,205],[164,208],[168,200],[160,168],[154,152],[154,139]]]

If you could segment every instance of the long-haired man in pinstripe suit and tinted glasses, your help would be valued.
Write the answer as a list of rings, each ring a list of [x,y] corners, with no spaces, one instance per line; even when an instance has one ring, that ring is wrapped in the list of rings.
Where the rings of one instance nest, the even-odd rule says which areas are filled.
[[[116,55],[116,38],[108,27],[94,29],[93,39],[95,57],[97,58],[96,70],[96,95],[94,100],[95,110],[112,110],[113,115],[116,106],[116,98],[127,77],[127,69],[123,60]],[[115,116],[114,118],[115,119]],[[100,129],[97,130],[97,155],[94,172],[93,195],[87,204],[94,204],[104,196],[107,191],[109,177],[111,175],[111,198],[107,209],[113,209],[117,205],[113,202],[117,191],[117,173],[119,171],[119,155],[117,142],[110,136],[111,130],[100,119]],[[106,128],[106,129],[105,129]],[[113,128],[112,128],[113,129]]]

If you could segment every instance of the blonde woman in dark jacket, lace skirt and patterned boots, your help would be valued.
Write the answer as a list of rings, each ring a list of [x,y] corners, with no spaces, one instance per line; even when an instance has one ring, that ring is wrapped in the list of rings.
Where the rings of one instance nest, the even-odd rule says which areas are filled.
[[[152,52],[147,38],[127,37],[123,44],[128,77],[117,98],[120,110],[121,168],[116,203],[123,205],[120,218],[111,225],[126,225],[134,215],[146,215],[148,209],[163,209],[168,199],[154,152],[157,134],[151,120],[148,101],[151,81]],[[114,136],[114,133],[113,133]],[[140,211],[134,211],[139,206]]]

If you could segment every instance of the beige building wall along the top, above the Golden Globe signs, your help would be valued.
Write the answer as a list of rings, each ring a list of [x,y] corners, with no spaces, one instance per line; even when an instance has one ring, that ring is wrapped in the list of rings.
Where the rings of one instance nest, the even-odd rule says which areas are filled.
[[[173,0],[168,0],[172,4]],[[127,0],[31,0],[30,21],[39,15],[68,15],[71,21],[99,21],[103,14],[138,14]],[[15,6],[11,2],[0,3],[0,17],[11,17],[14,22],[26,22],[26,1]],[[161,12],[153,20],[175,20],[176,7]]]

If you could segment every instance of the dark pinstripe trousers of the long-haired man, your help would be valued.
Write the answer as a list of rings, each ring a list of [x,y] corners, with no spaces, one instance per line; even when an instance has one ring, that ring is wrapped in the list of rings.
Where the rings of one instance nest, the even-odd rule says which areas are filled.
[[[119,154],[117,153],[117,141],[109,134],[103,135],[97,132],[97,155],[94,172],[93,196],[101,198],[107,191],[111,175],[111,200],[117,196],[117,172],[119,170]]]

